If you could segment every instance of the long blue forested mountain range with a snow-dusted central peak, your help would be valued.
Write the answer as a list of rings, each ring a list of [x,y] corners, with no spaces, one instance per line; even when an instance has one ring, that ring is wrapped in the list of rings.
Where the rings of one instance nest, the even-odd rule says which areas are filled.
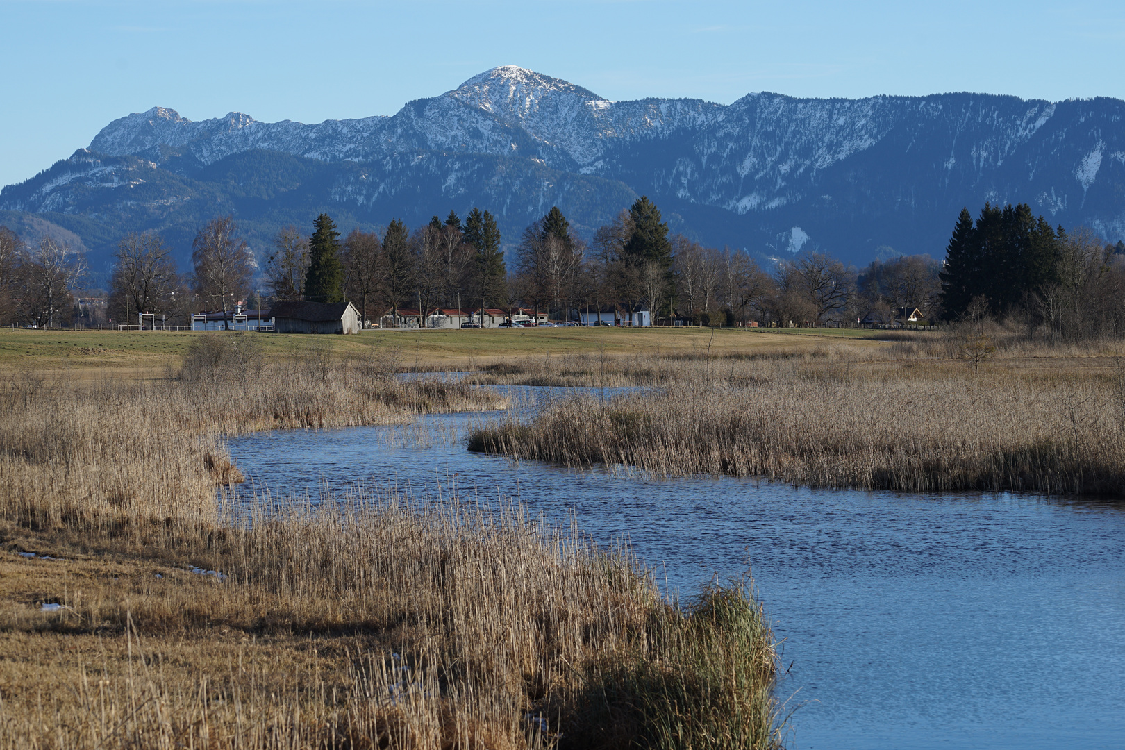
[[[502,66],[390,117],[191,121],[155,107],[6,188],[0,209],[75,232],[83,216],[108,235],[118,224],[190,234],[191,222],[232,210],[264,237],[316,210],[374,225],[480,205],[514,238],[551,205],[590,232],[646,193],[704,242],[864,262],[890,249],[940,255],[961,207],[990,200],[1116,242],[1123,115],[1117,99],[972,93],[615,102]]]

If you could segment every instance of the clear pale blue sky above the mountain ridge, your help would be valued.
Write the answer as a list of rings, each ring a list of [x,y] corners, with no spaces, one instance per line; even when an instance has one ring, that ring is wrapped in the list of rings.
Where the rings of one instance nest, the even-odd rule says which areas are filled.
[[[392,115],[505,64],[614,100],[1125,98],[1125,2],[0,0],[0,186],[155,105]]]

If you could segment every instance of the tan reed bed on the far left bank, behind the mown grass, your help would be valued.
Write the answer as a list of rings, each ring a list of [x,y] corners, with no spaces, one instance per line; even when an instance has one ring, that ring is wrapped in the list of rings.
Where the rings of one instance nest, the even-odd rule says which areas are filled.
[[[146,382],[10,380],[0,387],[0,518],[107,528],[142,517],[213,519],[215,485],[242,478],[223,435],[505,405],[464,382],[399,382],[362,362],[313,364]]]

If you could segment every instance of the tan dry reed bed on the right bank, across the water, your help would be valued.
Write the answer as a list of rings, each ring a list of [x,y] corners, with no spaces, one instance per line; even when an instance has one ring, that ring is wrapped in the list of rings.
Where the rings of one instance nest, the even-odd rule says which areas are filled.
[[[622,382],[639,372],[660,392],[556,403],[530,423],[477,430],[470,449],[814,487],[1125,493],[1125,377],[1104,347],[1086,350],[1106,364],[1092,374],[1061,358],[973,374],[933,355],[945,345],[622,362]]]

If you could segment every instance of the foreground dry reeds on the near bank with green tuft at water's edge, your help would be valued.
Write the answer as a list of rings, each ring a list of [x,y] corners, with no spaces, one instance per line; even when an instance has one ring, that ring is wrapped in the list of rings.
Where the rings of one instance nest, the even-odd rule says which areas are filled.
[[[114,593],[58,591],[66,608],[37,625],[6,605],[2,630],[124,633],[127,648],[71,662],[47,696],[3,685],[0,747],[780,746],[772,635],[740,585],[669,606],[628,551],[519,507],[372,493],[262,507],[251,523],[147,532],[225,580],[165,568]],[[194,669],[228,631],[306,633],[310,653],[269,669],[243,639],[226,668]],[[357,633],[369,638],[312,653]]]

